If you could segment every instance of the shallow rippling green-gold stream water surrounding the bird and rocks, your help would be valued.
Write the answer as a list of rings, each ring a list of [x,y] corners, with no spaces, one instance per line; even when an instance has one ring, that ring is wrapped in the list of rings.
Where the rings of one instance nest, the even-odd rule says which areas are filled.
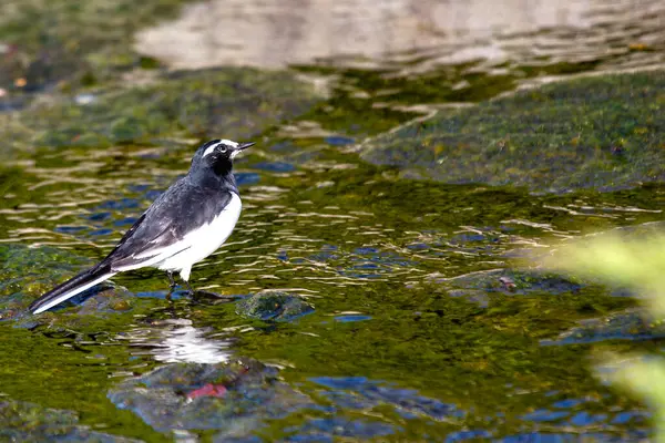
[[[616,10],[580,17],[624,17]],[[177,133],[12,152],[0,167],[0,440],[648,436],[645,406],[596,379],[593,356],[659,352],[663,328],[641,320],[621,288],[543,275],[519,259],[597,230],[659,229],[665,187],[534,195],[443,185],[398,178],[356,151],[418,115],[407,109],[491,97],[539,75],[659,63],[658,11],[657,2],[636,10],[641,31],[615,23],[620,37],[600,43],[592,20],[582,33],[598,43],[585,47],[591,55],[545,44],[579,30],[534,31],[522,43],[544,40],[548,61],[535,69],[538,54],[518,48],[507,75],[491,68],[497,60],[456,59],[456,42],[406,48],[412,56],[372,60],[372,70],[298,66],[326,79],[329,97],[258,131],[236,163],[236,231],[192,274],[195,288],[231,297],[167,298],[162,272],[139,270],[27,316],[32,299],[103,258],[186,172],[196,146]],[[505,48],[521,35],[511,32]],[[626,47],[633,38],[645,47]],[[222,124],[257,133],[243,122]],[[238,299],[263,290],[301,297],[315,311],[287,321],[239,315]]]

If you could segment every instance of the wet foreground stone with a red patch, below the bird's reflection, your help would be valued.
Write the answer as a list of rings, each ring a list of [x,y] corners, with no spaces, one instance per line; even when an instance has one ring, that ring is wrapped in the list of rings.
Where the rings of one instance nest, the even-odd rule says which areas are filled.
[[[262,420],[310,405],[277,379],[277,369],[254,360],[168,364],[120,383],[108,396],[157,431],[224,430],[228,437],[248,436]]]

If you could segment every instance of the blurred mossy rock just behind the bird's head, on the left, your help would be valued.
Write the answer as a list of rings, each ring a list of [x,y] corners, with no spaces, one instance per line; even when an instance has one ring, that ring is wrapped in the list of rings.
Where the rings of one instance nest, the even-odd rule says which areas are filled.
[[[64,95],[0,114],[6,148],[147,143],[156,136],[255,136],[305,112],[314,89],[287,72],[224,69],[176,73],[151,85],[76,100]]]

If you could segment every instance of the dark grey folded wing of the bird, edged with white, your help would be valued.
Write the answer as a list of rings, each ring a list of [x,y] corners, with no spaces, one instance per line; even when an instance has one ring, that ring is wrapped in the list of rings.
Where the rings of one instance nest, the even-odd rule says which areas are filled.
[[[231,198],[229,190],[194,186],[181,178],[139,217],[102,264],[129,270],[187,249],[185,235],[211,223]]]

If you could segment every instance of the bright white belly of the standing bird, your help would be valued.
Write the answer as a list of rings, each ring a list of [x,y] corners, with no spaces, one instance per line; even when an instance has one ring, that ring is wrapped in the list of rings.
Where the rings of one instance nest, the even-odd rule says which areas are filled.
[[[242,208],[241,197],[232,193],[231,200],[222,214],[209,224],[187,234],[183,238],[183,243],[191,245],[187,249],[153,266],[162,270],[182,271],[181,275],[187,280],[192,265],[213,254],[231,236],[241,217]]]

